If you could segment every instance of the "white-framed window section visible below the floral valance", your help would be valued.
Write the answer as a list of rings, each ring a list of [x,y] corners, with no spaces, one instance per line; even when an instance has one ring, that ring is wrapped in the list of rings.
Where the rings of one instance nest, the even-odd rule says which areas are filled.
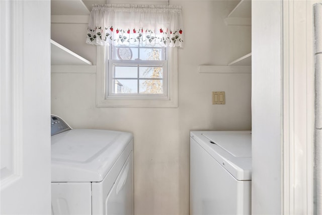
[[[177,48],[98,46],[97,106],[178,107]]]

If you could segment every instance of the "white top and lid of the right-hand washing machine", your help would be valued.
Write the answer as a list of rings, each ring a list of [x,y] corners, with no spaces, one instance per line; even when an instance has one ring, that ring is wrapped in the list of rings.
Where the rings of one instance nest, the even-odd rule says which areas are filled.
[[[191,137],[236,180],[252,180],[251,131],[191,131]]]

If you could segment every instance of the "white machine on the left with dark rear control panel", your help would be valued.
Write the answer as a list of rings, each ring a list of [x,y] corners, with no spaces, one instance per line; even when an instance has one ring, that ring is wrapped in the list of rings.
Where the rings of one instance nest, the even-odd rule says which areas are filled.
[[[51,116],[52,214],[133,214],[133,135]]]

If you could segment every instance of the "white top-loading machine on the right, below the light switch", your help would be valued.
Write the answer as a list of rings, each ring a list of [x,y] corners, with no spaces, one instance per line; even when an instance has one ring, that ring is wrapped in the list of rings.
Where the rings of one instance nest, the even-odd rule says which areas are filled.
[[[190,132],[190,214],[251,214],[250,131]]]

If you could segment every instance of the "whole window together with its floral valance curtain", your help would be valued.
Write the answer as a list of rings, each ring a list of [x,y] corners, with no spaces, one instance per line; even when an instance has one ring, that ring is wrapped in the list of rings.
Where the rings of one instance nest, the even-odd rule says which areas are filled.
[[[97,45],[97,106],[178,107],[181,6],[95,5],[86,35]]]

